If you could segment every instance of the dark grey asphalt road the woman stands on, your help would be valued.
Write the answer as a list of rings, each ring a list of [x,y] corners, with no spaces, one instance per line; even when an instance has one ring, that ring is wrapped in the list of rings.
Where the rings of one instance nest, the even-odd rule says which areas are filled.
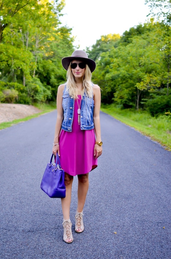
[[[0,131],[0,258],[171,258],[171,153],[105,113],[103,154],[89,174],[85,230],[74,231],[75,177],[74,242],[63,241],[60,199],[40,189],[55,122],[53,111]]]

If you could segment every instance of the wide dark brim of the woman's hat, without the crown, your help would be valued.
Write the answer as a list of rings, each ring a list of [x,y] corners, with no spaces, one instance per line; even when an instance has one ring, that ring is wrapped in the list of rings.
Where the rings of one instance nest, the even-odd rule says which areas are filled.
[[[96,67],[95,61],[93,59],[89,59],[85,57],[64,57],[62,59],[62,66],[64,67],[64,69],[68,70],[68,67],[71,61],[74,59],[83,60],[89,66],[91,73],[95,70],[95,67]]]

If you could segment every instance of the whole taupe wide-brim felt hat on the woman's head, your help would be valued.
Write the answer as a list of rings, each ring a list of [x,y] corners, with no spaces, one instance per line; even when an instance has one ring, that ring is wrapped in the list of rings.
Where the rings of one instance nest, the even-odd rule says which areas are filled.
[[[95,61],[93,59],[88,58],[87,53],[84,50],[75,50],[72,53],[71,57],[64,57],[62,59],[62,65],[64,69],[68,70],[71,61],[74,59],[81,59],[82,61],[84,61],[89,66],[91,73],[95,70]]]

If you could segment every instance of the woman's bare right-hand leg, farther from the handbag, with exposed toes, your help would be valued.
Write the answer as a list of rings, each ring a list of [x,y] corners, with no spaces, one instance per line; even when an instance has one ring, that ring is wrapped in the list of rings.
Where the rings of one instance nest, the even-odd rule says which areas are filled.
[[[82,212],[86,201],[86,196],[89,187],[89,174],[78,175],[78,212]],[[81,229],[77,229],[77,232],[82,232]]]

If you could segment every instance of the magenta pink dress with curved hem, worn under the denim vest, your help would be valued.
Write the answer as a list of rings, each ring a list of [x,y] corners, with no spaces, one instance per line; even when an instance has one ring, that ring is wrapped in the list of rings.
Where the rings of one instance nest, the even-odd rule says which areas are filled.
[[[80,99],[81,95],[78,95],[79,104]],[[87,174],[97,167],[97,159],[94,157],[94,129],[81,130],[77,110],[78,104],[75,101],[72,132],[62,129],[59,136],[60,164],[62,169],[72,176]]]

